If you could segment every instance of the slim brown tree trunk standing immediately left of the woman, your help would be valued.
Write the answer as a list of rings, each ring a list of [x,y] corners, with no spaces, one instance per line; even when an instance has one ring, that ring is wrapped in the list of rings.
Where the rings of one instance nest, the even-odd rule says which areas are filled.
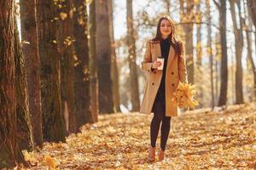
[[[129,68],[130,68],[130,90],[131,90],[131,111],[140,110],[140,99],[137,81],[137,65],[136,65],[136,46],[135,35],[133,30],[133,17],[132,17],[132,0],[126,0],[126,23],[127,23],[127,46],[129,50]]]

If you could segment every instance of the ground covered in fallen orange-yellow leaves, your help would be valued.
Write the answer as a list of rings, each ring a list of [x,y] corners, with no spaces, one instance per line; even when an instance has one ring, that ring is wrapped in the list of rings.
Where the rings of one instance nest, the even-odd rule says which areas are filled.
[[[113,114],[85,125],[65,144],[44,144],[28,154],[32,169],[253,169],[256,106],[195,110],[172,117],[165,161],[147,161],[152,115]],[[160,139],[157,146],[160,145]],[[157,157],[156,157],[157,158]],[[34,159],[34,160],[33,160]]]

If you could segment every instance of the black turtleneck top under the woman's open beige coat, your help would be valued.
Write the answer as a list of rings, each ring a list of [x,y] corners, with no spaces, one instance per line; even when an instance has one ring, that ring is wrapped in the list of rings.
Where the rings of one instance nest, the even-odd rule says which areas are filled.
[[[158,89],[157,98],[164,100],[166,99],[166,65],[168,60],[168,55],[170,51],[171,39],[168,37],[166,39],[162,39],[160,41],[160,48],[162,57],[164,57],[164,68],[163,68],[163,76],[161,78],[160,87]]]

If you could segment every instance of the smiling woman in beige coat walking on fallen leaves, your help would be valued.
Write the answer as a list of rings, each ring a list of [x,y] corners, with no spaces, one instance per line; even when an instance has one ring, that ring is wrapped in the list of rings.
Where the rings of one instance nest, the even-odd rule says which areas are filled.
[[[162,70],[158,68],[162,65],[157,60],[160,56],[164,58]],[[177,40],[174,23],[169,16],[160,18],[156,36],[147,42],[142,68],[146,72],[147,82],[140,112],[145,114],[154,112],[150,124],[151,144],[148,149],[148,160],[155,160],[155,143],[161,122],[158,156],[162,161],[170,132],[171,117],[177,116],[177,105],[172,102],[172,94],[179,82],[187,83],[184,45]]]

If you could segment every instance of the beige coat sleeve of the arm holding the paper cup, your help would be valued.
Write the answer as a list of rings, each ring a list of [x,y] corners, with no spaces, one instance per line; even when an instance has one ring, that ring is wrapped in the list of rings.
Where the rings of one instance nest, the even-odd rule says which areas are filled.
[[[144,54],[143,62],[141,64],[143,71],[154,71],[154,69],[151,68],[153,62],[150,41],[147,42],[146,52]]]

